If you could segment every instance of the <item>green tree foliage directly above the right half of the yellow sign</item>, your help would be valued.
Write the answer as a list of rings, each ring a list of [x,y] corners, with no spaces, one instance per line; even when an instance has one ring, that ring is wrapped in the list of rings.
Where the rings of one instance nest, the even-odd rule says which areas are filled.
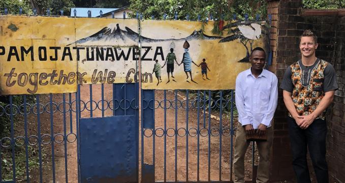
[[[131,9],[134,12],[141,12],[144,19],[150,19],[151,15],[162,19],[164,14],[167,14],[167,19],[174,19],[175,12],[178,13],[180,20],[185,20],[187,15],[190,15],[191,20],[197,20],[198,15],[202,20],[209,18],[210,15],[218,20],[222,19],[223,15],[223,19],[229,20],[232,19],[233,14],[238,18],[243,18],[245,13],[249,18],[256,17],[256,14],[265,18],[267,14],[265,0],[130,0],[130,2]]]

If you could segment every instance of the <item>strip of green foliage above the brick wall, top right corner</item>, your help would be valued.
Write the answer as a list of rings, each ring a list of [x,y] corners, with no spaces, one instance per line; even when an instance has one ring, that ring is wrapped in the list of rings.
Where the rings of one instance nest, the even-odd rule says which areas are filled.
[[[345,8],[345,0],[303,0],[303,8],[306,9],[342,9]]]

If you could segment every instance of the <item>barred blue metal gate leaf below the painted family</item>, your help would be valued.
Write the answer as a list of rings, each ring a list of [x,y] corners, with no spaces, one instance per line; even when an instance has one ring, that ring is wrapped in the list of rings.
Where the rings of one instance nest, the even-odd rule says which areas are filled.
[[[156,139],[155,136],[157,137],[162,137],[160,138],[162,140],[162,145],[164,145],[162,147],[163,152],[162,152],[162,159],[160,159],[160,161],[163,164],[162,167],[162,181],[163,182],[170,182],[170,181],[175,181],[175,182],[179,182],[178,180],[178,136],[185,136],[185,154],[183,156],[185,156],[185,177],[184,181],[185,182],[193,182],[193,181],[197,181],[197,182],[202,182],[204,180],[201,180],[201,171],[200,171],[200,164],[201,164],[201,137],[200,135],[202,135],[203,137],[207,136],[205,140],[207,140],[208,144],[207,146],[207,167],[208,167],[208,171],[207,171],[207,181],[208,182],[214,182],[214,180],[211,180],[211,142],[212,142],[212,138],[217,137],[219,140],[219,145],[218,145],[218,150],[219,150],[219,154],[218,154],[218,160],[217,162],[218,164],[218,180],[215,180],[216,182],[227,182],[227,181],[232,181],[233,180],[233,141],[234,141],[234,132],[236,130],[236,128],[234,127],[234,90],[231,90],[229,92],[228,95],[230,95],[231,98],[229,99],[225,99],[224,98],[224,91],[219,91],[218,93],[218,97],[219,98],[212,98],[211,97],[211,91],[208,90],[208,92],[206,91],[200,91],[200,90],[196,90],[195,93],[195,98],[191,99],[190,94],[191,91],[190,90],[184,90],[185,92],[185,100],[180,101],[178,99],[178,92],[179,90],[174,90],[173,91],[173,99],[167,99],[167,90],[162,90],[162,101],[159,99],[155,99],[154,97],[154,91],[155,90],[150,90],[149,92],[151,93],[151,95],[147,95],[148,91],[147,90],[142,90],[142,125],[141,125],[141,129],[142,129],[142,139],[141,139],[141,162],[142,162],[142,177],[144,177],[142,179],[142,182],[160,182],[159,180],[153,179],[154,175],[148,175],[148,174],[154,174],[155,170],[154,167],[157,167],[157,162],[156,160],[160,159],[156,156],[156,154],[158,154],[158,152],[156,152],[156,148],[157,147],[161,147],[160,142]],[[200,96],[201,94],[203,94],[203,99]],[[206,94],[208,95],[208,99],[206,101]],[[154,101],[154,106],[153,106],[153,101]],[[175,104],[173,103],[175,102]],[[207,102],[208,102],[208,106],[207,106]],[[180,106],[178,106],[180,103]],[[173,107],[174,112],[173,113],[169,113],[170,115],[173,115],[175,117],[174,122],[170,123],[169,122],[169,126],[168,126],[168,109]],[[178,126],[178,108],[184,108],[185,111],[185,124],[184,124],[184,128],[179,128]],[[159,125],[157,126],[157,124],[155,123],[155,119],[154,118],[154,109],[157,108],[161,108],[164,113],[162,115],[163,119],[161,124],[162,127],[160,127]],[[191,120],[189,119],[191,117],[191,112],[190,109],[194,108],[195,109],[195,115],[196,118],[194,119],[195,121],[193,122],[193,124],[191,124]],[[207,109],[206,109],[207,108]],[[212,127],[211,125],[211,112],[212,112],[212,108],[218,108],[219,109],[219,119],[218,119],[218,126],[216,127]],[[227,126],[223,126],[224,124],[224,119],[223,119],[223,115],[224,115],[224,110],[225,109],[229,109],[230,115],[229,115],[229,123],[226,123]],[[203,111],[203,117],[201,118],[200,116],[200,112],[201,110]],[[208,111],[208,119],[206,119],[206,111]],[[151,115],[148,117],[146,114],[151,113]],[[146,115],[146,116],[145,116]],[[201,121],[203,120],[203,121]],[[206,121],[208,121],[206,123]],[[197,123],[197,126],[194,127],[194,123]],[[192,125],[192,126],[191,126]],[[201,125],[201,127],[200,127]],[[207,126],[208,125],[208,126]],[[172,129],[171,127],[174,126],[175,129]],[[228,127],[229,126],[229,127]],[[172,134],[171,130],[174,131],[174,134]],[[182,130],[182,131],[181,131]],[[185,134],[181,134],[183,133],[183,130],[185,131]],[[195,131],[195,132],[194,132]],[[179,134],[180,132],[180,134]],[[206,133],[207,132],[207,133]],[[204,134],[205,133],[205,134]],[[168,179],[168,170],[167,170],[167,165],[168,164],[168,159],[167,159],[167,146],[168,146],[168,139],[167,139],[167,135],[169,137],[172,137],[173,135],[175,135],[174,137],[174,144],[171,144],[170,140],[169,140],[169,145],[174,145],[175,150],[173,151],[169,151],[172,152],[174,154],[174,160],[173,162],[175,162],[175,165],[173,167],[173,171],[174,171],[174,177],[171,177],[171,173],[169,173],[169,179]],[[178,135],[178,136],[177,136]],[[223,138],[223,135],[228,136],[227,138]],[[191,148],[189,147],[191,144],[191,140],[189,138],[189,136],[195,136],[196,137],[196,153],[195,154],[191,154],[190,150]],[[212,138],[211,138],[212,137]],[[227,140],[225,141],[225,139],[229,138],[229,143],[227,142]],[[146,139],[151,139],[151,141],[147,141]],[[205,144],[206,141],[204,141],[203,144]],[[206,143],[207,143],[206,142]],[[145,152],[147,150],[145,150],[145,143],[152,143],[152,164],[147,164],[144,160],[144,157],[146,157],[146,159],[148,158],[147,156],[149,156],[148,154],[146,154]],[[227,143],[227,144],[224,144]],[[206,144],[205,144],[206,145]],[[226,149],[228,149],[230,147],[230,150],[226,150],[223,149],[223,145],[226,145]],[[255,144],[254,144],[255,145]],[[224,174],[224,165],[223,165],[223,160],[224,160],[224,151],[229,151],[227,153],[229,153],[229,160],[226,160],[229,162],[229,180],[223,180],[223,175]],[[255,146],[253,147],[252,150],[252,167],[254,167],[255,165]],[[224,154],[224,155],[223,155]],[[189,171],[189,166],[190,165],[190,158],[191,156],[195,156],[196,158],[196,174],[193,173],[193,177],[196,176],[196,180],[191,180],[189,175],[190,175],[190,171]],[[213,155],[212,155],[213,156]],[[150,168],[149,168],[150,167]],[[150,171],[147,171],[150,170]],[[158,171],[161,171],[158,170]],[[157,171],[157,170],[156,170]],[[206,172],[205,172],[206,173]],[[253,171],[254,173],[254,171]],[[150,179],[151,181],[147,181],[147,176],[150,176],[152,179]],[[173,178],[173,179],[171,179]]]

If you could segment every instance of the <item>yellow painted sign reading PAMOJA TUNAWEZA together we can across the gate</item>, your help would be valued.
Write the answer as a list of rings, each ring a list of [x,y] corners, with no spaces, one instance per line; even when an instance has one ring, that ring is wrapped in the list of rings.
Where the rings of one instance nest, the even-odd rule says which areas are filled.
[[[0,95],[138,82],[139,58],[143,89],[234,89],[250,49],[267,48],[265,26],[248,22],[222,36],[213,22],[0,16],[0,26]]]

